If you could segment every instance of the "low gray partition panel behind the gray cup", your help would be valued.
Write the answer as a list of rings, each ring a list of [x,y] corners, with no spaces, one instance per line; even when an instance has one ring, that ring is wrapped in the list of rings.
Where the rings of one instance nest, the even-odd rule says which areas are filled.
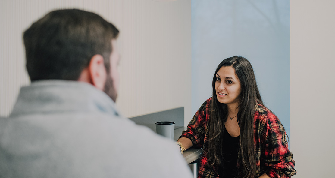
[[[184,107],[150,113],[141,116],[135,116],[129,119],[134,121],[138,125],[149,127],[154,132],[156,132],[155,123],[159,121],[175,122],[175,129],[178,129],[184,127]]]

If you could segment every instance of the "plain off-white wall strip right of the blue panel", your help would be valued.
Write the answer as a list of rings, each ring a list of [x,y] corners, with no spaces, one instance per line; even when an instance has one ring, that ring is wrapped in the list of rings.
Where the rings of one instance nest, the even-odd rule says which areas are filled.
[[[334,177],[335,1],[291,0],[294,178]]]

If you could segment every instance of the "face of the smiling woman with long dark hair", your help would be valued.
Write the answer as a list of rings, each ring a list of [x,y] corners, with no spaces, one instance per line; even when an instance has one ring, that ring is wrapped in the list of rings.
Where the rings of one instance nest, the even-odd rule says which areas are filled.
[[[241,94],[241,83],[231,66],[222,66],[215,74],[217,101],[227,105],[237,104]]]

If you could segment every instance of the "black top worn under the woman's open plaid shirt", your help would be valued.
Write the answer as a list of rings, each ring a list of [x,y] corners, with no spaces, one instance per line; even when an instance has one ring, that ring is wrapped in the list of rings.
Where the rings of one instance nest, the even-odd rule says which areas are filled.
[[[218,174],[220,178],[234,178],[237,175],[240,136],[231,137],[225,127],[223,130],[223,159]]]

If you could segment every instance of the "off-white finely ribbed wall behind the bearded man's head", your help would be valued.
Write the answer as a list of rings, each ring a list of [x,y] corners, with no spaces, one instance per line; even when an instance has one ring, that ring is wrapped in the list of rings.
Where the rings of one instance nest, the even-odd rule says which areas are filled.
[[[191,117],[191,0],[0,1],[0,116],[29,84],[22,32],[58,8],[96,12],[120,30],[117,106],[125,117],[185,107]]]

